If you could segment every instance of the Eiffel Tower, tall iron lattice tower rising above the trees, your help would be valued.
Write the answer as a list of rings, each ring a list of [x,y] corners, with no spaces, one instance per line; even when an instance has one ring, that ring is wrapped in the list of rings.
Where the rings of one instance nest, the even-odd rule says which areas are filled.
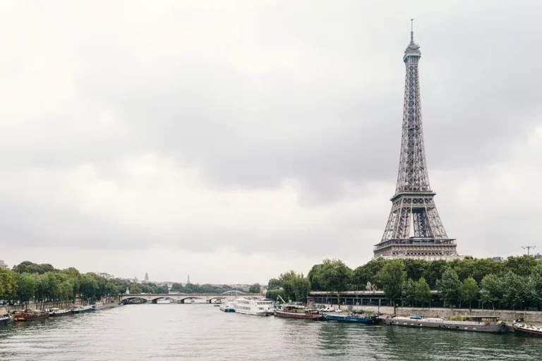
[[[374,247],[374,257],[454,259],[459,257],[457,245],[442,226],[433,200],[436,193],[429,185],[418,76],[421,52],[414,42],[414,25],[411,26],[410,44],[403,56],[406,76],[397,187],[384,235]]]

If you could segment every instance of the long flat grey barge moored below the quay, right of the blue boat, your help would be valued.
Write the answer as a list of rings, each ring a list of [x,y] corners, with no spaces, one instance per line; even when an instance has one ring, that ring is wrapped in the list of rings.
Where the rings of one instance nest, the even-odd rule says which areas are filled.
[[[385,324],[394,326],[431,327],[453,331],[505,332],[506,324],[499,321],[498,316],[464,316],[465,321],[452,321],[439,317],[428,317],[413,314],[411,317],[387,317]]]

